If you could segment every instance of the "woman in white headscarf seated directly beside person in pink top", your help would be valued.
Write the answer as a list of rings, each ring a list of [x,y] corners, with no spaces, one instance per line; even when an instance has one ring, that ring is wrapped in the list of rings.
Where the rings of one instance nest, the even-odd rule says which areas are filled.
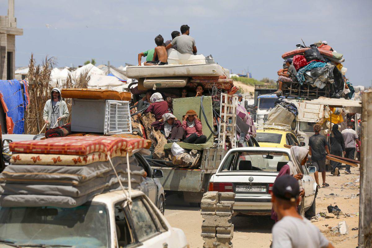
[[[151,123],[151,126],[163,132],[168,143],[182,141],[185,133],[182,123],[171,113],[165,113],[160,120]]]

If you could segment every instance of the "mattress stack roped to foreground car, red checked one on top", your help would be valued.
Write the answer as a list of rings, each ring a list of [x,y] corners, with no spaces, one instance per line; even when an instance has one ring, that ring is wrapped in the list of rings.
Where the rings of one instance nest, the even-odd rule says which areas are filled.
[[[146,139],[111,136],[12,142],[12,164],[0,174],[0,206],[76,207],[97,194],[120,190],[119,180],[128,188],[127,153],[150,145]],[[131,186],[138,189],[144,170],[132,157],[129,164]]]

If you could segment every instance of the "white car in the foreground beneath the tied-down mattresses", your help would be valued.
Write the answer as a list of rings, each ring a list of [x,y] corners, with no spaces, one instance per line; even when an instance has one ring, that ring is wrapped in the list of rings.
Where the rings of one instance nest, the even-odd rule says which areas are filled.
[[[121,190],[73,208],[0,207],[0,248],[189,246],[142,191],[132,190],[131,199],[131,209]]]

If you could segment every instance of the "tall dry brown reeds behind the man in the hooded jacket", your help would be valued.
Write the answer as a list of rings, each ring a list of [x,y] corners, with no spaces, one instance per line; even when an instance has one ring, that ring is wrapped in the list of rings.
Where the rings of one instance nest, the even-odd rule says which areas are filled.
[[[50,74],[53,67],[56,65],[54,57],[47,58],[41,65],[36,65],[33,54],[31,54],[29,71],[26,79],[29,81],[29,97],[30,105],[25,111],[25,133],[37,134],[41,131],[45,122],[43,120],[43,110],[45,102],[51,99],[50,91],[52,87],[49,85],[51,80]],[[69,73],[67,82],[60,88],[87,88],[90,80],[90,70],[84,70],[78,77]],[[68,110],[71,113],[71,99],[64,99],[67,103]],[[67,120],[70,122],[70,118]]]

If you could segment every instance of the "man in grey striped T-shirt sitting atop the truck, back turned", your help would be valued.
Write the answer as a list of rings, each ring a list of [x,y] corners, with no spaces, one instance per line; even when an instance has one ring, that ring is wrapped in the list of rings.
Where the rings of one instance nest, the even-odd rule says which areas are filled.
[[[195,39],[190,35],[190,27],[187,25],[181,26],[182,35],[175,37],[170,44],[166,46],[166,49],[172,48],[172,46],[177,46],[177,51],[181,54],[196,54],[198,50],[195,46]]]

